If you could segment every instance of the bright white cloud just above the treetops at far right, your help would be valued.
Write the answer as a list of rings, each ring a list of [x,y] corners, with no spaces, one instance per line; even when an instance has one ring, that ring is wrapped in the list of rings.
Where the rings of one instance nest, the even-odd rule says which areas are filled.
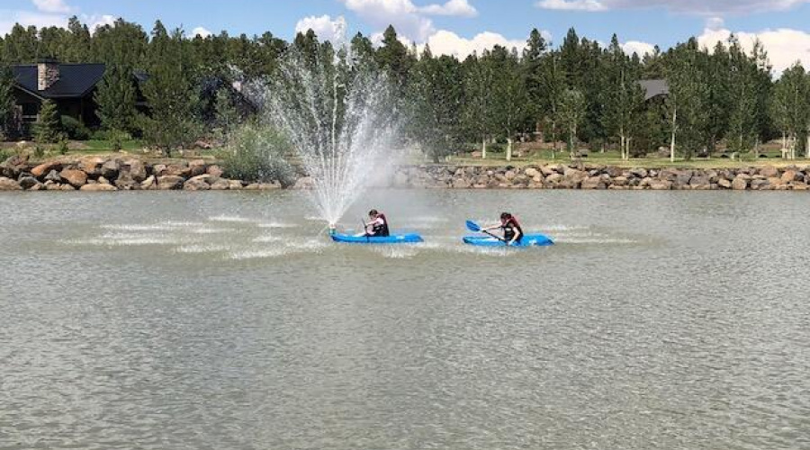
[[[726,43],[731,34],[732,31],[725,29],[707,29],[698,37],[698,43],[701,47],[711,50],[717,41]],[[777,75],[797,61],[805,67],[810,67],[810,33],[806,31],[780,28],[759,32],[734,32],[734,36],[746,51],[751,51],[754,41],[759,39],[768,52],[768,59]]]

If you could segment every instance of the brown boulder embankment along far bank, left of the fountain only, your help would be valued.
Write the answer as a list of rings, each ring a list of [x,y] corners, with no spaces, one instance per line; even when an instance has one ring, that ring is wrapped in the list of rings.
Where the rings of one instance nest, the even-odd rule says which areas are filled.
[[[10,157],[0,164],[0,191],[270,190],[279,183],[223,178],[220,166],[204,160],[153,164],[135,157],[55,159],[41,164]]]

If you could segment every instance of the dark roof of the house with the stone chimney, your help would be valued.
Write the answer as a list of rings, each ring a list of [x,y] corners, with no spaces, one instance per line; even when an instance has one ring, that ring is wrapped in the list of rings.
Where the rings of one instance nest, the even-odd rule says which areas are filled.
[[[37,89],[37,66],[14,66],[14,77],[23,90],[43,98],[84,97],[104,76],[103,64],[59,64],[59,79],[48,89]]]

